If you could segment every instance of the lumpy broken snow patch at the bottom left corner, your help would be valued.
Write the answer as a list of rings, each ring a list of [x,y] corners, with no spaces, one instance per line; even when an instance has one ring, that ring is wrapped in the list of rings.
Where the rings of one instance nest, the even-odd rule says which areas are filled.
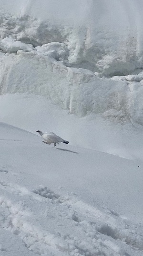
[[[0,219],[3,220],[0,221],[0,227],[20,236],[29,250],[38,255],[46,254],[49,252],[53,235],[41,231],[34,223],[27,221],[27,217],[30,216],[31,212],[22,202],[13,203],[8,199],[0,198]],[[52,250],[55,251],[54,248]]]

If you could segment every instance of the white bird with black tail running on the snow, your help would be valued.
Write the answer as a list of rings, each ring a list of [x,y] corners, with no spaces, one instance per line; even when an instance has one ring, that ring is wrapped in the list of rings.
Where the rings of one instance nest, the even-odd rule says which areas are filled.
[[[51,143],[54,143],[54,147],[56,146],[56,143],[59,144],[59,142],[63,142],[65,144],[69,143],[69,141],[63,140],[61,137],[59,137],[58,135],[56,135],[55,133],[53,133],[51,131],[43,133],[42,131],[37,130],[36,132],[38,132],[40,134],[40,136],[44,139],[44,140],[42,140],[43,143],[46,143],[49,145]]]

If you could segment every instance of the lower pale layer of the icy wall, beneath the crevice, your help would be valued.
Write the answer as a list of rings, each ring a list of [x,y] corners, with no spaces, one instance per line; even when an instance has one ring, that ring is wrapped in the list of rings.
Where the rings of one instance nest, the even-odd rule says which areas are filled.
[[[116,121],[143,124],[140,83],[102,79],[92,71],[66,67],[62,62],[68,51],[60,43],[36,48],[1,58],[0,94],[40,94],[71,114],[95,113]]]

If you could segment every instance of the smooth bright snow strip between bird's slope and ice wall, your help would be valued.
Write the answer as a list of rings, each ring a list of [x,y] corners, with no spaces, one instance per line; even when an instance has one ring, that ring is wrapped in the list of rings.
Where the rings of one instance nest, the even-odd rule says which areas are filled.
[[[0,95],[0,121],[36,133],[52,131],[71,145],[143,161],[143,127],[111,123],[100,116],[79,118],[29,93]]]

